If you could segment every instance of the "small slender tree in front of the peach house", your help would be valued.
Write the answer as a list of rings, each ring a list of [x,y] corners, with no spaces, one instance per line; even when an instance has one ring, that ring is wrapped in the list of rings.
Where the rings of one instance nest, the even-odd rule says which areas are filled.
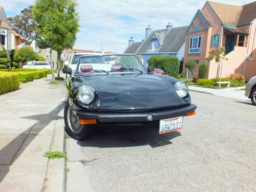
[[[207,57],[208,61],[211,61],[215,58],[215,62],[218,63],[216,81],[218,81],[218,79],[220,78],[220,63],[222,62],[222,60],[228,60],[227,58],[225,58],[225,51],[226,50],[224,49],[224,47],[220,49],[213,49],[209,51],[209,56]]]

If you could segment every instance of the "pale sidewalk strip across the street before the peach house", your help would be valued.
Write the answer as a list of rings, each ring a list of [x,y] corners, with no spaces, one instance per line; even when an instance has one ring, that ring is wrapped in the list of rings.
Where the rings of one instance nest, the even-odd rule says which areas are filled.
[[[245,91],[240,89],[245,89],[245,87],[237,88],[225,88],[225,89],[210,89],[210,88],[201,88],[196,86],[188,86],[189,91],[197,91],[202,93],[209,93],[212,95],[217,95],[221,97],[228,97],[238,100],[250,100],[248,97],[244,96]],[[239,90],[239,91],[238,91]]]

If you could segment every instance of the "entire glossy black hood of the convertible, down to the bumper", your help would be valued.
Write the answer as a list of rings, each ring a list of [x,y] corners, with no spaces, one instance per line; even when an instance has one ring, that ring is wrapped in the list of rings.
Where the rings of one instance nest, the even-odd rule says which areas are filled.
[[[178,96],[170,83],[174,78],[163,79],[153,74],[81,76],[75,80],[75,87],[87,84],[97,92],[94,102],[86,106],[89,110],[155,111],[189,104]]]

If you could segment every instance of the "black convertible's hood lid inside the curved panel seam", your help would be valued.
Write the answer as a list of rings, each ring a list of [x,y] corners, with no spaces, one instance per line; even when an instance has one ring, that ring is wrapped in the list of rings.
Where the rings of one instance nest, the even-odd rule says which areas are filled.
[[[92,83],[96,89],[106,93],[148,93],[169,89],[163,79],[151,74],[110,74],[89,77],[86,80]]]

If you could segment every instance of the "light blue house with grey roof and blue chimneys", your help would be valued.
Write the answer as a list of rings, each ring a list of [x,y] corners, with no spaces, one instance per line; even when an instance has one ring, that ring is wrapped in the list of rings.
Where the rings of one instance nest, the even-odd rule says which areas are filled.
[[[166,29],[155,31],[148,26],[145,39],[141,42],[134,42],[131,38],[124,53],[141,55],[145,67],[152,56],[173,56],[181,60],[184,55],[186,29],[187,26],[173,28],[170,23]]]

